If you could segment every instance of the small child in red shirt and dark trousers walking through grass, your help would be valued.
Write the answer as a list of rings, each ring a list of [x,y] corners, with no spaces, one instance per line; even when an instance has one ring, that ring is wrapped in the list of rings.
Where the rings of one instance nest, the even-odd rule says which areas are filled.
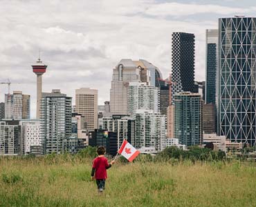
[[[97,149],[98,157],[93,159],[93,168],[91,169],[91,179],[96,179],[99,193],[102,193],[105,188],[105,180],[107,179],[107,169],[111,168],[115,161],[111,161],[110,164],[107,158],[104,157],[106,149],[104,146],[100,146]]]

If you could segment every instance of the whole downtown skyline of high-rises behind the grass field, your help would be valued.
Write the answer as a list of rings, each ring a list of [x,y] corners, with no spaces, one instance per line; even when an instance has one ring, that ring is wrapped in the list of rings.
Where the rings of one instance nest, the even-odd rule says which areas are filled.
[[[98,104],[96,89],[74,89],[74,106],[73,97],[59,89],[42,92],[47,66],[38,59],[32,66],[37,117],[30,119],[30,95],[5,95],[0,155],[77,153],[86,146],[105,146],[114,156],[125,139],[143,153],[171,146],[225,152],[255,146],[255,25],[256,18],[221,18],[219,28],[205,31],[205,81],[194,80],[194,34],[170,35],[167,77],[144,59],[121,59],[112,70],[104,105]]]

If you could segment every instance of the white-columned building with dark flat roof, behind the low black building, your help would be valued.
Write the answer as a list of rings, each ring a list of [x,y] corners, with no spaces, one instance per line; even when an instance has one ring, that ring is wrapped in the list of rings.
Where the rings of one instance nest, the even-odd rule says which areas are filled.
[[[112,115],[112,117],[102,118],[102,129],[109,132],[116,132],[118,148],[122,145],[122,141],[127,139],[131,144],[134,140],[134,119],[127,115]]]

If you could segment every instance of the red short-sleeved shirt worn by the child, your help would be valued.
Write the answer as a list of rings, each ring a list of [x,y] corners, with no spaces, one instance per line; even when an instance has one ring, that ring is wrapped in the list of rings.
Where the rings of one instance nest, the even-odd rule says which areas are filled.
[[[95,168],[95,179],[106,179],[107,178],[107,167],[109,162],[106,157],[96,157],[93,159],[93,168]]]

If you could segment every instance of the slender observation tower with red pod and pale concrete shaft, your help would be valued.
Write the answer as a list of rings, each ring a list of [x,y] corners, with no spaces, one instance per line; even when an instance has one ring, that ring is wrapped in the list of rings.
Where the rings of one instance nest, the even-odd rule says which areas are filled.
[[[33,72],[37,75],[37,119],[40,118],[40,103],[42,99],[42,76],[46,72],[47,66],[41,61],[40,57],[37,63],[32,66]]]

